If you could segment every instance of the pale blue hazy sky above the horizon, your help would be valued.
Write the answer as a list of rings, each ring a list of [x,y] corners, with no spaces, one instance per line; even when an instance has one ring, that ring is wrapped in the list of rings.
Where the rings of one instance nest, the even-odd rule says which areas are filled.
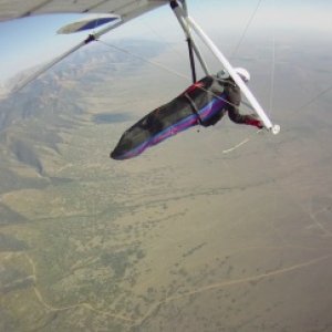
[[[240,39],[258,4],[258,11],[247,31],[249,37],[250,33],[261,33],[263,30],[271,35],[272,29],[300,33],[303,37],[313,32],[332,34],[332,3],[329,0],[188,1],[190,14],[208,33],[218,37],[227,32],[229,35],[234,34],[236,40]],[[84,40],[86,32],[56,34],[61,27],[82,17],[85,15],[56,14],[0,23],[0,83],[21,70],[52,60]],[[157,37],[168,42],[184,40],[167,6],[113,30],[103,39]]]

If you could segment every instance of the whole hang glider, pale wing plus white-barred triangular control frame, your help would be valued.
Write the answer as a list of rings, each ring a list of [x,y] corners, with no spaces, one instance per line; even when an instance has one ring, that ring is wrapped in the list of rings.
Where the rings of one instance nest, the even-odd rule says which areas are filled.
[[[262,121],[263,126],[271,133],[278,134],[280,132],[280,126],[272,124],[272,122],[267,116],[255,95],[251,93],[246,83],[229,63],[227,58],[216,46],[211,39],[204,32],[204,30],[196,23],[196,21],[188,14],[186,0],[0,0],[0,21],[46,13],[104,13],[98,18],[91,17],[61,28],[59,30],[59,33],[74,33],[87,29],[96,29],[103,24],[106,24],[106,27],[101,28],[100,30],[94,31],[93,33],[90,33],[87,38],[81,43],[79,43],[61,56],[54,59],[54,61],[52,61],[51,63],[40,69],[32,77],[20,84],[19,90],[29,84],[31,81],[35,80],[43,72],[45,72],[54,64],[56,64],[71,53],[75,52],[80,48],[98,40],[103,34],[110,32],[111,30],[121,24],[124,24],[128,20],[164,4],[170,4],[170,8],[174,11],[175,17],[177,18],[186,35],[189,50],[189,61],[191,68],[193,82],[197,82],[195,69],[196,59],[200,63],[201,69],[206,73],[206,75],[210,75],[208,66],[203,58],[203,54],[193,37],[194,32],[196,34],[195,37],[199,38],[203,41],[207,49],[220,62],[221,66],[225,68],[225,70],[229,73],[236,85],[247,97],[248,102],[252,106],[252,110]],[[188,118],[188,114],[185,114],[184,118]],[[148,115],[147,118],[149,118]],[[139,123],[137,124],[139,125]],[[170,136],[173,134],[172,131],[168,134],[167,135]],[[164,139],[164,136],[159,136],[159,133],[154,133],[154,137],[157,137],[156,142],[147,142],[144,141],[145,138],[143,137],[143,145],[139,145],[139,147],[134,148],[145,148],[147,145],[154,145],[157,142]]]

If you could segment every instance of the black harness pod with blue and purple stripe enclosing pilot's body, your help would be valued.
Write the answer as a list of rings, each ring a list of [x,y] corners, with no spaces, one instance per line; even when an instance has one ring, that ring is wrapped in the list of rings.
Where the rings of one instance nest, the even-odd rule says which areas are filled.
[[[191,126],[214,125],[224,115],[226,103],[222,85],[216,77],[206,76],[129,127],[111,153],[111,158],[133,158]]]

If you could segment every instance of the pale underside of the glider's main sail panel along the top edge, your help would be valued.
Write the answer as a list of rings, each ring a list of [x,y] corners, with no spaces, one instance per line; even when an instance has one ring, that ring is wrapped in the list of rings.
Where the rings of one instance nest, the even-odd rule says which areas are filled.
[[[0,0],[0,21],[52,13],[110,13],[122,22],[136,18],[168,0]]]

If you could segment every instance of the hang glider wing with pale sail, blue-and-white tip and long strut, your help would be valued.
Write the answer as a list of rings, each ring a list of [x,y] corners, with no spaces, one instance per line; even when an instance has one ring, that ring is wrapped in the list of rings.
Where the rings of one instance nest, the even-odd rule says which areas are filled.
[[[111,23],[93,34],[90,34],[81,43],[54,59],[51,63],[42,66],[31,77],[25,79],[23,82],[18,82],[13,92],[20,91],[64,58],[90,42],[97,40],[101,35],[166,3],[169,3],[169,0],[0,0],[0,22],[38,14],[100,13],[98,15],[70,23],[61,28],[58,33],[85,31],[87,29],[98,28],[105,23]]]

